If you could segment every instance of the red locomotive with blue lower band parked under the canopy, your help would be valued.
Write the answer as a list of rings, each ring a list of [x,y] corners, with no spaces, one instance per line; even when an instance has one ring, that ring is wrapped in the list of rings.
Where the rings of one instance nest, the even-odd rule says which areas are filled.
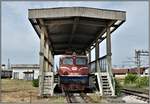
[[[89,84],[89,69],[85,55],[64,55],[60,58],[60,87],[69,91],[84,91]]]

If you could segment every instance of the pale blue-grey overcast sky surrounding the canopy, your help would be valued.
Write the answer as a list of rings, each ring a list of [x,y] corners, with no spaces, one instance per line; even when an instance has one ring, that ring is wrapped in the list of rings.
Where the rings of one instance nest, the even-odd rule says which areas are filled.
[[[135,49],[148,50],[147,1],[2,1],[2,63],[7,65],[8,59],[11,64],[39,63],[40,40],[28,20],[28,9],[79,6],[126,11],[126,22],[112,33],[113,66],[131,67],[134,63],[128,61],[134,60]],[[101,56],[105,47],[101,43]],[[143,64],[147,59],[142,58]]]

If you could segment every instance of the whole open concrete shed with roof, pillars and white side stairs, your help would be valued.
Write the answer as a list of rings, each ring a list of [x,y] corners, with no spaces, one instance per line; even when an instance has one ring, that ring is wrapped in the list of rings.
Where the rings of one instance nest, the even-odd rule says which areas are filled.
[[[29,20],[40,38],[39,95],[53,95],[53,58],[72,50],[88,54],[91,73],[98,78],[100,95],[115,95],[111,68],[111,33],[126,20],[125,11],[87,7],[29,9]],[[99,45],[106,39],[107,54],[99,57]],[[91,50],[95,48],[95,61]],[[107,88],[103,80],[107,79]],[[51,83],[48,89],[46,80]]]

